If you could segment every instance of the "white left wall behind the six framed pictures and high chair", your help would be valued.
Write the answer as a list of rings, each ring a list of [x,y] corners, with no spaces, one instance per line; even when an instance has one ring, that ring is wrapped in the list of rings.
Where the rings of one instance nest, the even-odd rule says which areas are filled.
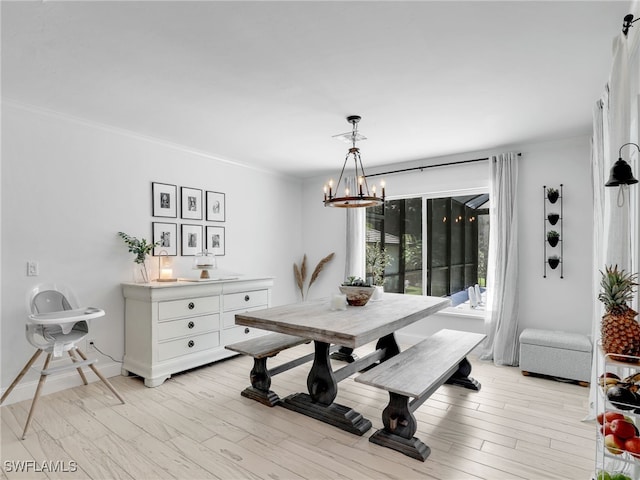
[[[274,276],[273,303],[296,300],[291,264],[302,254],[299,180],[7,102],[2,140],[3,389],[32,354],[25,298],[41,282],[66,282],[83,304],[104,308],[91,335],[102,351],[122,358],[120,283],[131,281],[133,255],[116,233],[150,240],[153,221],[214,225],[152,217],[153,181],[226,193],[226,255],[219,267]],[[178,275],[192,273],[193,257],[173,258]],[[39,277],[26,276],[28,260],[39,262]],[[100,362],[108,374],[119,373],[108,358]],[[27,380],[34,378],[32,372]],[[20,398],[16,391],[9,401]]]

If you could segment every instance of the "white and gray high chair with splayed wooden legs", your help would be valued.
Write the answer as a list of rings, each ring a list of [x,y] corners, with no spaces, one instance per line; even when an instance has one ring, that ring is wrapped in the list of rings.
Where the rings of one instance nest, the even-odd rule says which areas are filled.
[[[44,366],[40,371],[40,380],[33,396],[31,409],[24,426],[22,439],[24,440],[36,403],[40,397],[40,392],[48,375],[66,372],[76,369],[82,378],[82,382],[87,385],[82,367],[89,367],[100,380],[111,390],[111,392],[122,402],[124,399],[111,383],[98,371],[94,363],[98,359],[88,359],[78,348],[77,343],[84,339],[89,333],[88,320],[102,317],[104,310],[94,307],[79,308],[78,302],[73,293],[65,286],[39,285],[34,288],[27,297],[27,309],[30,314],[27,317],[26,337],[31,345],[36,347],[36,352],[20,371],[15,380],[9,385],[7,391],[0,398],[0,404],[4,402],[13,388],[22,380],[22,377],[29,371],[29,368],[38,359],[42,352],[47,353]],[[52,357],[62,357],[67,352],[71,363],[65,363],[55,367],[49,367]],[[79,360],[75,354],[81,358]]]

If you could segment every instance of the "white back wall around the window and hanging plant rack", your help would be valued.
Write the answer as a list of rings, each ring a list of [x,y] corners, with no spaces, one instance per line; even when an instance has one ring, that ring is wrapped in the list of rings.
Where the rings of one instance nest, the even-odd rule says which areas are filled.
[[[519,160],[519,268],[520,330],[527,327],[590,333],[591,328],[591,238],[592,195],[590,140],[577,137],[555,142],[510,146],[491,152],[472,152],[415,165],[483,158],[518,151]],[[366,158],[363,159],[366,165]],[[338,164],[336,163],[336,167]],[[370,173],[376,169],[369,168]],[[332,173],[333,174],[333,173]],[[327,177],[328,178],[328,177]],[[422,194],[434,191],[488,186],[486,162],[425,169],[423,172],[390,175],[388,195]],[[345,214],[325,208],[321,202],[326,178],[305,181],[303,188],[303,244],[308,253],[335,250],[339,259],[315,290],[316,296],[337,289],[344,276]],[[564,279],[559,269],[543,278],[543,185],[564,184]],[[482,320],[435,315],[408,328],[408,335],[428,335],[440,328],[481,332]]]

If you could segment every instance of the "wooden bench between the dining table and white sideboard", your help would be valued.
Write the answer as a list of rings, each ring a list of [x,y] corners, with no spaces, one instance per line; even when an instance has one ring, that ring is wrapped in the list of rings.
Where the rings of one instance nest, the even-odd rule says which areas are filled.
[[[288,348],[296,347],[303,343],[309,343],[307,338],[286,335],[284,333],[269,333],[242,342],[226,345],[227,350],[249,355],[253,357],[253,368],[249,373],[251,386],[245,388],[241,395],[251,398],[269,407],[280,403],[280,397],[269,390],[271,377],[313,360],[313,353],[295,360],[278,365],[272,369],[267,368],[267,358],[275,357],[278,353]],[[336,346],[335,349],[339,347]]]

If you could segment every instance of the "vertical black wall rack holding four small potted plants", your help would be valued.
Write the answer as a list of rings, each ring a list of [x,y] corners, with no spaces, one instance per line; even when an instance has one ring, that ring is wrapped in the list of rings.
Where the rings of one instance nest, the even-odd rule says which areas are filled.
[[[563,232],[563,185],[560,189],[542,186],[544,196],[544,278],[547,278],[547,269],[560,268],[560,278],[564,278],[564,232]],[[559,210],[559,211],[558,211]]]

